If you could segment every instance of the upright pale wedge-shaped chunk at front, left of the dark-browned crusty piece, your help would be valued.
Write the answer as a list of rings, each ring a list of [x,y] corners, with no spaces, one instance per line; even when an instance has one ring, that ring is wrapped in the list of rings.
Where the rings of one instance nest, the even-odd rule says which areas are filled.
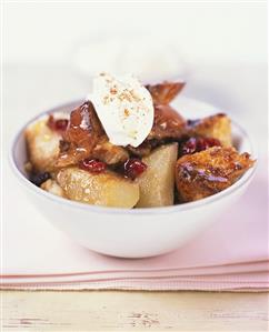
[[[142,159],[148,168],[137,178],[140,199],[137,208],[167,207],[173,204],[175,165],[178,143],[162,145]]]

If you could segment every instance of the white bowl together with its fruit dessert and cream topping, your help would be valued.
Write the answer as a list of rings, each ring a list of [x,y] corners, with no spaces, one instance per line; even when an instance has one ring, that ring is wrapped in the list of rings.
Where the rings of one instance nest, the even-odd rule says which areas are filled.
[[[123,258],[171,251],[226,213],[255,153],[226,114],[202,117],[210,108],[183,98],[172,108],[183,85],[103,73],[86,101],[30,121],[11,163],[39,211],[83,247]]]

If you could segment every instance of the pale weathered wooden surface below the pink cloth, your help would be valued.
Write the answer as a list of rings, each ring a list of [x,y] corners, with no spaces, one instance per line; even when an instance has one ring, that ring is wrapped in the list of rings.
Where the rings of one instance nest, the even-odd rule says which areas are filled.
[[[1,292],[2,331],[268,331],[268,293]]]

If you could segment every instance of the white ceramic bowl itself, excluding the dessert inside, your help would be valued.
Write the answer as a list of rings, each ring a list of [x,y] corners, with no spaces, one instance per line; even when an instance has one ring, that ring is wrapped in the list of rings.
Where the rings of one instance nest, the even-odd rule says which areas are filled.
[[[70,111],[79,103],[76,101],[46,113]],[[177,100],[177,109],[189,119],[218,112],[211,105],[186,98]],[[26,127],[39,117],[30,120]],[[133,210],[88,205],[50,194],[27,179],[23,168],[27,161],[24,128],[16,135],[10,152],[18,185],[22,187],[24,194],[56,228],[86,248],[114,256],[152,256],[185,244],[199,231],[218,221],[218,215],[228,213],[230,205],[247,189],[255,172],[252,168],[222,192],[181,205]],[[248,134],[235,122],[232,135],[240,151],[247,151],[256,158]]]

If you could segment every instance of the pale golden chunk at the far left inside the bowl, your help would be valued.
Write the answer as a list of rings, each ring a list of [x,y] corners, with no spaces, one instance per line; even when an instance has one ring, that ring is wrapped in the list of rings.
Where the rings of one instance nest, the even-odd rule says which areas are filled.
[[[26,140],[34,171],[49,172],[53,169],[59,153],[60,134],[47,125],[47,119],[30,124],[26,130]]]

